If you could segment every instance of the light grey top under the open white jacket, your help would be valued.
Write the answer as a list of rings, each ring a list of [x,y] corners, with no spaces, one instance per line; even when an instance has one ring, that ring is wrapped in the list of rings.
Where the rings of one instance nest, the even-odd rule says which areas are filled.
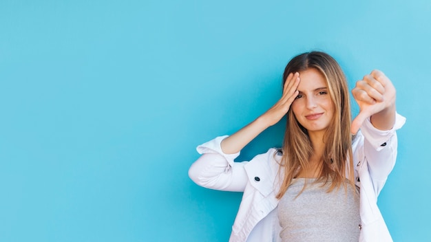
[[[329,183],[293,179],[278,203],[282,241],[359,241],[359,188],[346,185],[327,192]]]

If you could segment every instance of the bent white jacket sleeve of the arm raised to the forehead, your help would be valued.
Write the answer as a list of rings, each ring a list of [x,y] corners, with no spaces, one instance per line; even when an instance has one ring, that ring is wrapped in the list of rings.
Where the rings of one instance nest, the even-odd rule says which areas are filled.
[[[248,179],[244,165],[248,162],[233,162],[240,153],[223,153],[220,143],[225,137],[216,137],[196,148],[201,156],[189,168],[189,177],[204,188],[243,192]]]

